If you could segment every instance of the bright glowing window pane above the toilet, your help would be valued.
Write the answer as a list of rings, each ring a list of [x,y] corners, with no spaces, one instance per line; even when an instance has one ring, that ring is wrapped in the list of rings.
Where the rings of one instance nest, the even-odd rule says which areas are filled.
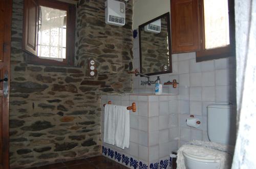
[[[229,45],[227,0],[204,1],[205,48]]]

